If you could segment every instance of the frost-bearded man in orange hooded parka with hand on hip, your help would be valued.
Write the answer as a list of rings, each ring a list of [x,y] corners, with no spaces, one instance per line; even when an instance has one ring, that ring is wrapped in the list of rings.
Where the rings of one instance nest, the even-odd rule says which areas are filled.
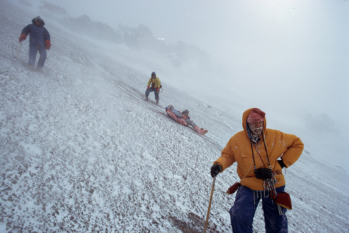
[[[214,177],[237,162],[240,182],[236,183],[235,202],[229,211],[233,233],[252,233],[260,199],[266,233],[287,232],[286,208],[276,204],[275,199],[284,193],[282,168],[298,160],[304,144],[295,135],[267,129],[265,113],[258,108],[244,112],[242,125],[244,130],[230,138],[211,167]]]

